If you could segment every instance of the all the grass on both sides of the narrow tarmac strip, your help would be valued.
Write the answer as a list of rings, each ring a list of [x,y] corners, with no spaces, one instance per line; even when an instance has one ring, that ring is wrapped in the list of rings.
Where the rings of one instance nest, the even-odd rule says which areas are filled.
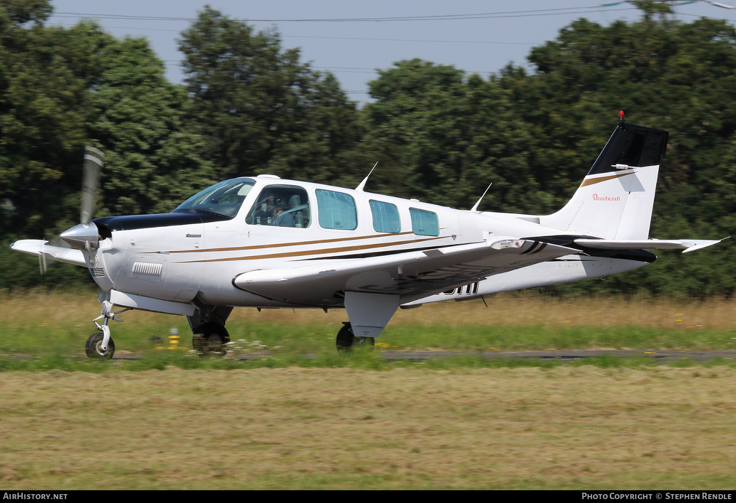
[[[91,361],[93,294],[1,306],[3,489],[736,487],[732,363],[380,357],[386,347],[735,349],[734,302],[436,304],[400,311],[377,352],[353,357],[334,351],[344,312],[236,310],[228,328],[240,351],[269,354],[245,363],[156,350],[151,338],[171,327],[188,345],[188,326],[143,312],[113,327],[118,352],[141,360]]]

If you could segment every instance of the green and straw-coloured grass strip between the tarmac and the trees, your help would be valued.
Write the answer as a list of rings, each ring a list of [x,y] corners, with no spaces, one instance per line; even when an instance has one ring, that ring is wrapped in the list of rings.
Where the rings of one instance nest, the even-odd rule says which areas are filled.
[[[399,310],[378,349],[736,349],[736,302],[594,298],[560,301],[526,293]],[[94,332],[96,296],[30,293],[0,302],[0,353],[80,354]],[[176,328],[191,348],[183,316],[132,311],[111,325],[116,353],[152,354]],[[344,310],[236,309],[227,321],[241,352],[334,354]]]

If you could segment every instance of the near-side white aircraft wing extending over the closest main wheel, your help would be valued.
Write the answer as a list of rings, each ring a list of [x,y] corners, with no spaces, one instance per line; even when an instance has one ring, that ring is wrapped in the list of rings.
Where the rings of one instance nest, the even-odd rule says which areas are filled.
[[[247,271],[233,278],[233,285],[268,299],[312,306],[339,306],[346,291],[389,293],[410,302],[579,251],[534,239],[492,236],[423,251]]]

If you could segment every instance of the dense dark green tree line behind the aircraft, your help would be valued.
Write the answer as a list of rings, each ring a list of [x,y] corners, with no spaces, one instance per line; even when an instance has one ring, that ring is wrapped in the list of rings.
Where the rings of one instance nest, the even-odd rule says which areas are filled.
[[[579,19],[488,79],[423,60],[369,82],[359,109],[328,72],[274,30],[204,7],[180,35],[185,83],[164,78],[145,39],[97,24],[47,26],[48,0],[0,0],[0,288],[88,281],[41,277],[19,238],[54,239],[79,220],[85,145],[105,152],[96,216],[162,213],[221,179],[253,174],[355,187],[470,209],[552,213],[615,127],[666,129],[651,235],[723,238],[735,228],[736,31],[724,21]],[[731,296],[728,241],[555,293]]]

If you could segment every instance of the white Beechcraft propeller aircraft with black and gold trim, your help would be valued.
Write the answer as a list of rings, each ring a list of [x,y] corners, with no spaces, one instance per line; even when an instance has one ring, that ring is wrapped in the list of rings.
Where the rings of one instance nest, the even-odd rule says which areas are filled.
[[[349,190],[260,175],[220,182],[171,213],[89,221],[87,169],[82,224],[61,235],[74,248],[11,248],[89,269],[102,302],[89,357],[115,352],[114,306],[185,315],[200,354],[223,351],[234,306],[344,307],[336,340],[347,349],[372,344],[397,307],[602,278],[653,262],[644,249],[718,243],[648,239],[667,138],[620,113],[573,199],[551,215],[453,210],[367,193],[366,180]],[[88,149],[85,165],[101,156]]]

